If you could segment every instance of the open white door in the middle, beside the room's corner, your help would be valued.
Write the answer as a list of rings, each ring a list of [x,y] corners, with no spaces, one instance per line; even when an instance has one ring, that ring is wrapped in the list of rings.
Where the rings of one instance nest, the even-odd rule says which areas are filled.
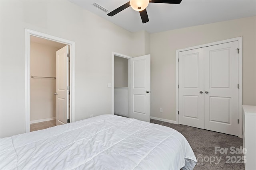
[[[150,55],[130,59],[130,117],[150,122]]]

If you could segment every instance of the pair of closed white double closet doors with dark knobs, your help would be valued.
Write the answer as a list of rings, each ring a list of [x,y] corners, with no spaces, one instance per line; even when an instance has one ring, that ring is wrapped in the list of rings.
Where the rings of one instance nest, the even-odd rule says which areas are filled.
[[[238,41],[178,53],[179,123],[238,135]]]

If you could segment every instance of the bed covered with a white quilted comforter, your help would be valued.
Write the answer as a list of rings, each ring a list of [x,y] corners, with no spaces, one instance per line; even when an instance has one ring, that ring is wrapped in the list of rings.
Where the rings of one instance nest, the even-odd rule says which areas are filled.
[[[115,115],[0,139],[3,170],[180,170],[195,164],[178,131]]]

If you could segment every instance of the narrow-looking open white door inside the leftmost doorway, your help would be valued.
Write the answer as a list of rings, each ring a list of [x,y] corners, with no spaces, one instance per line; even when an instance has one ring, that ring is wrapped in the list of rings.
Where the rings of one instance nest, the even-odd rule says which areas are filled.
[[[68,115],[68,45],[56,51],[56,125],[67,123]]]

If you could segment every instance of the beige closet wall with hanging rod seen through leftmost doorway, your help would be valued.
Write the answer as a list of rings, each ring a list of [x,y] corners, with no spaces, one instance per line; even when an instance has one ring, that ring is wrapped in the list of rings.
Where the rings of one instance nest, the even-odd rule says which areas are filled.
[[[30,43],[30,74],[56,77],[58,47]],[[56,79],[30,78],[30,121],[56,117]]]

